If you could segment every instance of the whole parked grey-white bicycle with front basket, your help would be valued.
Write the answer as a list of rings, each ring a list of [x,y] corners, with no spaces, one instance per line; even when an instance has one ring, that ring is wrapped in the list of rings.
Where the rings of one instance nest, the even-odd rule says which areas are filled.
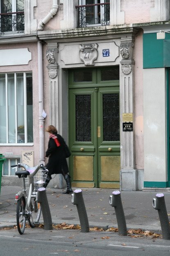
[[[37,190],[44,186],[48,170],[43,164],[30,167],[24,163],[18,163],[17,165],[11,165],[11,167],[24,169],[17,170],[15,173],[19,178],[23,178],[23,190],[15,195],[15,200],[17,200],[17,228],[22,235],[25,231],[26,221],[29,222],[32,228],[39,224],[41,205],[37,202]],[[28,196],[25,186],[27,177],[29,182]]]

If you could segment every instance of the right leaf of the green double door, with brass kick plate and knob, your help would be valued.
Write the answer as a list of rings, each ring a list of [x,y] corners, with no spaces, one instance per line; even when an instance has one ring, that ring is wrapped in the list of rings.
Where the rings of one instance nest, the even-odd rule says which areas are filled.
[[[118,88],[98,92],[98,182],[101,188],[119,188],[120,124]]]

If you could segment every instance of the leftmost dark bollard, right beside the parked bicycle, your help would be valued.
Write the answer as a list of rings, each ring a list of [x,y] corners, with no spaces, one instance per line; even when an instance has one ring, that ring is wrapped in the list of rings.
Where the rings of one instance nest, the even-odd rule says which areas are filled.
[[[50,207],[48,205],[48,199],[45,188],[39,188],[37,193],[37,202],[41,204],[41,210],[43,214],[44,229],[52,230],[52,219],[50,213]]]

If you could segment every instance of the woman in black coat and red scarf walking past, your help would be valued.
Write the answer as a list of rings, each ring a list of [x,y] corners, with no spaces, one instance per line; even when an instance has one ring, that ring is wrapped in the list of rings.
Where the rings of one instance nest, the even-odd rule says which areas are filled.
[[[71,188],[70,176],[68,175],[68,164],[66,161],[66,155],[64,151],[65,141],[61,135],[58,134],[57,129],[54,126],[48,126],[46,131],[50,134],[48,149],[45,153],[45,157],[49,157],[46,168],[48,169],[48,176],[45,181],[45,187],[48,185],[52,174],[61,173],[66,180],[67,190],[63,194],[71,194],[73,190]]]

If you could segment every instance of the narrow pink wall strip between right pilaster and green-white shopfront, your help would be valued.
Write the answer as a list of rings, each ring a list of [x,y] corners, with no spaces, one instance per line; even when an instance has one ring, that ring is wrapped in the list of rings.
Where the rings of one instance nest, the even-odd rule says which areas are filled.
[[[134,104],[135,104],[135,149],[136,168],[144,168],[143,145],[143,30],[135,38],[134,47]]]

